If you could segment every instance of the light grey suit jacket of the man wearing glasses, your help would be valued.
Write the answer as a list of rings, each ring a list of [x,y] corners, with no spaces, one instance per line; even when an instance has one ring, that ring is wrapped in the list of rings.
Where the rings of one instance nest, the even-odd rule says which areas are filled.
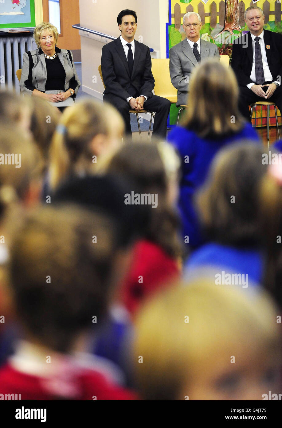
[[[208,58],[219,59],[217,45],[201,39],[200,57],[201,62]],[[191,49],[187,39],[182,40],[182,42],[173,46],[173,48],[170,48],[170,80],[173,86],[177,89],[177,107],[179,107],[181,104],[187,104],[189,78],[193,68],[197,65],[197,59],[195,58],[193,50]]]

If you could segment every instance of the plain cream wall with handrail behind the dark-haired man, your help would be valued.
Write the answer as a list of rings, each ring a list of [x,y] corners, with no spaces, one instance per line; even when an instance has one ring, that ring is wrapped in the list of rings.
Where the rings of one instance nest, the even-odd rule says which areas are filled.
[[[117,16],[123,9],[135,10],[135,39],[154,49],[152,57],[166,57],[167,0],[79,0],[80,25],[110,36],[119,37]],[[105,42],[99,36],[81,35],[82,90],[102,99],[103,84],[98,73]]]

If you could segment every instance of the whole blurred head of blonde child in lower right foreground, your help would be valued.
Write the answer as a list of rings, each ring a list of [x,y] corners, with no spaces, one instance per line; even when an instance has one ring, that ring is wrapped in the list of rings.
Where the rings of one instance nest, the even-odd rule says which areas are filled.
[[[159,295],[136,321],[141,394],[148,400],[261,400],[277,392],[276,315],[266,295],[248,296],[208,279]]]

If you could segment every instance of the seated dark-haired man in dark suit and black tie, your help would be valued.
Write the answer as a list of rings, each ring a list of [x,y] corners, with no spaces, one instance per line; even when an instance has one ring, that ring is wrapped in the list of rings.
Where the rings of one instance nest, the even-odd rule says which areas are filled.
[[[129,110],[156,112],[153,134],[166,138],[170,101],[153,95],[154,78],[148,46],[134,40],[137,16],[125,9],[118,15],[121,36],[103,46],[101,68],[105,84],[103,100],[123,116],[126,133],[131,134]]]

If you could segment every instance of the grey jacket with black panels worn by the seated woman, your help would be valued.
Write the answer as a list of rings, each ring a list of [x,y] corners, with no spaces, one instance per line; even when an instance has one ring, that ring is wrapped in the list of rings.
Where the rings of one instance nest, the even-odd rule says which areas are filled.
[[[75,93],[75,98],[81,83],[76,74],[76,69],[73,64],[73,54],[71,51],[59,49],[55,47],[59,60],[65,69],[65,91],[72,88]],[[24,95],[32,95],[33,89],[45,92],[45,84],[47,79],[46,63],[43,51],[29,51],[23,54],[23,65],[21,71],[20,88]],[[58,88],[60,89],[60,88]]]

